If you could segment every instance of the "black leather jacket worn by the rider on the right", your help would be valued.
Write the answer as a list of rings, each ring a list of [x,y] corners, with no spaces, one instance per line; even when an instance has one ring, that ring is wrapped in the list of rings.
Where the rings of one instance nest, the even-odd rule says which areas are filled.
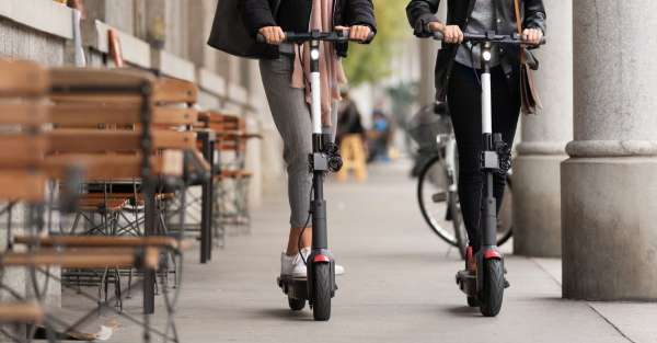
[[[468,21],[474,9],[476,0],[447,0],[447,23],[448,25],[459,25],[461,31],[465,31]],[[408,22],[418,37],[429,37],[431,32],[427,30],[429,22],[437,22],[436,12],[440,0],[411,0],[406,7]],[[517,32],[516,13],[514,0],[496,0],[497,27],[499,34],[511,34]],[[545,34],[545,8],[543,0],[520,0],[520,13],[522,18],[522,28],[540,28]],[[445,44],[438,53],[436,60],[436,98],[445,101],[447,95],[447,84],[451,66],[457,56],[458,45]],[[520,65],[520,52],[517,47],[500,47],[503,68],[505,73],[516,72]]]

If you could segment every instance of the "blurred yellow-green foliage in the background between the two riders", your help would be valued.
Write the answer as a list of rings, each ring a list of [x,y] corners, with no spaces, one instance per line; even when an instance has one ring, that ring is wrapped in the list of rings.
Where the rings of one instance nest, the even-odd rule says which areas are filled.
[[[377,37],[370,45],[349,45],[344,60],[349,84],[377,82],[391,72],[391,57],[397,42],[410,33],[405,8],[407,0],[373,0],[377,15]]]

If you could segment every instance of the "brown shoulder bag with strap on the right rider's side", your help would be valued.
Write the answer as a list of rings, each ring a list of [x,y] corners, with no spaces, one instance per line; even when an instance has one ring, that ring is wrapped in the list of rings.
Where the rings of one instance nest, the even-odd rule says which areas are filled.
[[[516,26],[518,34],[522,34],[522,24],[520,22],[520,0],[514,0],[516,7]],[[539,91],[534,82],[533,71],[538,69],[538,61],[530,56],[532,62],[528,62],[530,53],[526,47],[520,47],[520,110],[522,114],[535,114],[537,110],[542,110],[543,104],[539,96]],[[533,68],[532,68],[533,67]]]

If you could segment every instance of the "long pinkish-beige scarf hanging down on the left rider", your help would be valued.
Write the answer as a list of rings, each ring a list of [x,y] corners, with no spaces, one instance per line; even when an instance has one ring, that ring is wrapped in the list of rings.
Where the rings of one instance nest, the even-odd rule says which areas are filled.
[[[333,0],[312,0],[310,30],[323,32],[333,31]],[[310,104],[310,50],[304,44],[296,50],[295,70],[292,71],[292,88],[306,89],[306,102]],[[331,105],[341,100],[339,87],[347,82],[342,62],[332,43],[320,43],[320,73],[322,76],[322,125],[330,127]]]

